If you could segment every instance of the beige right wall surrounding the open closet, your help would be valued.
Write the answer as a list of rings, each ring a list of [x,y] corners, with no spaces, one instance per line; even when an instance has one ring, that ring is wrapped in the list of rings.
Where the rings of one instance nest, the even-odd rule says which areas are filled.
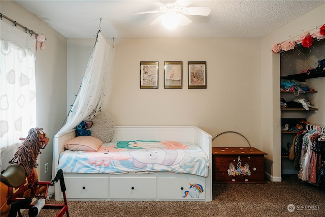
[[[263,150],[269,153],[266,158],[266,170],[271,180],[281,180],[281,154],[280,154],[280,54],[273,54],[271,47],[290,38],[297,40],[298,36],[321,26],[325,23],[325,4],[306,13],[298,19],[275,30],[262,38],[262,86],[263,86]],[[297,37],[296,37],[297,36]],[[324,84],[323,78],[311,79],[315,81],[310,84],[318,90],[317,98],[319,111],[315,123],[325,126],[325,113],[321,109],[324,106]],[[324,108],[324,107],[322,107]]]

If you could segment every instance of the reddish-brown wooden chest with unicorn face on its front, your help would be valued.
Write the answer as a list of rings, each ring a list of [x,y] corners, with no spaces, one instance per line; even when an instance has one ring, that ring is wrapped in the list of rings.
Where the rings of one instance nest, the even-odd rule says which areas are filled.
[[[265,183],[265,154],[252,147],[213,147],[213,182]]]

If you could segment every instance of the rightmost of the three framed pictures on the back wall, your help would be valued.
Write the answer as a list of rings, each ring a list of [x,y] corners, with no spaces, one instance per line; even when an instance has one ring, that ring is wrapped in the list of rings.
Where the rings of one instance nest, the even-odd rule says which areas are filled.
[[[188,62],[188,89],[207,88],[207,62]]]

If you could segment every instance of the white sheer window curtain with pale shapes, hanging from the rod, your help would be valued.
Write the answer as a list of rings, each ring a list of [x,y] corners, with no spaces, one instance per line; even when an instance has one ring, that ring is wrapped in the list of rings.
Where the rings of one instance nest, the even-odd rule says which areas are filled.
[[[1,20],[0,158],[9,166],[19,137],[36,127],[35,37]]]

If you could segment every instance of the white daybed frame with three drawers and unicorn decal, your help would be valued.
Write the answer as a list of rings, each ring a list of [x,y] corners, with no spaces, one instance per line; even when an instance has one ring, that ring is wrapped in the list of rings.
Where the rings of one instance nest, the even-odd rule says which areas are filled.
[[[63,144],[75,137],[75,130],[54,137],[55,174]],[[212,200],[212,136],[198,127],[120,127],[112,141],[160,140],[192,142],[201,146],[209,158],[209,176],[181,173],[151,174],[80,174],[64,173],[68,200]],[[189,183],[200,183],[204,192],[199,197],[183,198]],[[55,185],[55,200],[63,200],[60,185]]]

